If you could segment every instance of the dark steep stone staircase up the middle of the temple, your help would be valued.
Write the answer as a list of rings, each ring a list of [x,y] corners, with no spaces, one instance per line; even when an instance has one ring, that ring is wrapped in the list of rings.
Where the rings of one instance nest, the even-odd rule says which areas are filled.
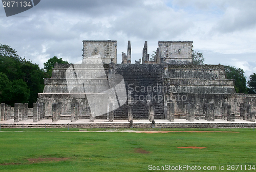
[[[161,65],[122,64],[117,65],[116,73],[124,78],[128,99],[129,91],[132,93],[134,119],[148,119],[150,99],[155,106],[155,119],[164,119]],[[115,111],[115,119],[127,119],[127,114],[128,101]]]

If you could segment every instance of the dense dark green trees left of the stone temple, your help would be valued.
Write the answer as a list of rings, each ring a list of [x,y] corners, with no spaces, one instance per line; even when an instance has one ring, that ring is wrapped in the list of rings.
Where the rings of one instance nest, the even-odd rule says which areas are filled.
[[[44,71],[32,61],[19,57],[10,46],[0,44],[0,102],[12,106],[16,102],[27,102],[32,107],[37,94],[44,91],[44,78],[51,77],[49,73],[55,62],[67,63],[54,56],[45,63]]]

